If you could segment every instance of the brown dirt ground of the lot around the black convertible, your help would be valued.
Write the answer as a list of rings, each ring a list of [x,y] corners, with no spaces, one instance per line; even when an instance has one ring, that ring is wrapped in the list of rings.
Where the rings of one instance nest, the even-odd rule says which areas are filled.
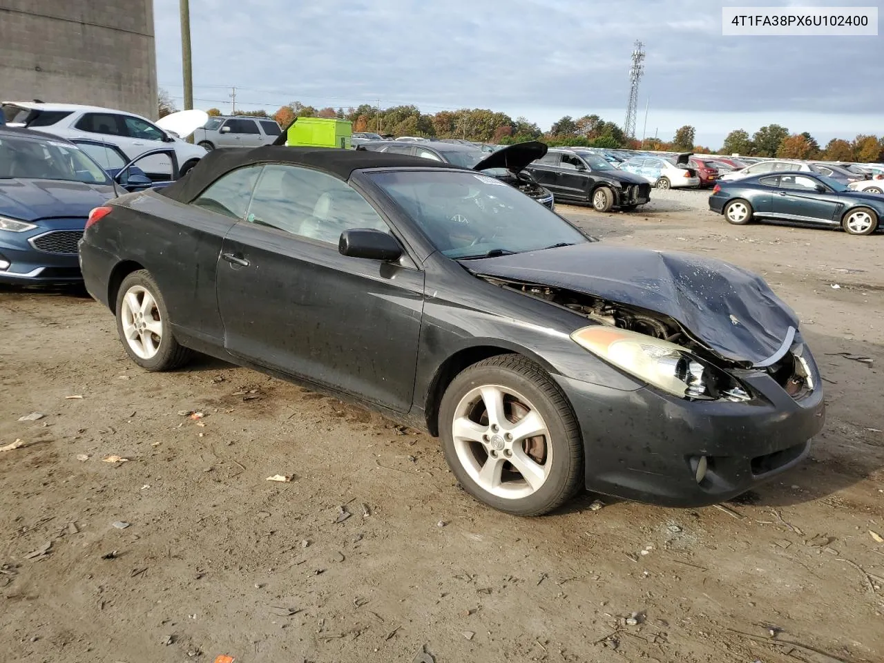
[[[510,517],[434,438],[223,362],[143,372],[94,301],[4,289],[0,660],[884,660],[884,236],[560,211],[764,274],[824,371],[804,465],[722,508]]]

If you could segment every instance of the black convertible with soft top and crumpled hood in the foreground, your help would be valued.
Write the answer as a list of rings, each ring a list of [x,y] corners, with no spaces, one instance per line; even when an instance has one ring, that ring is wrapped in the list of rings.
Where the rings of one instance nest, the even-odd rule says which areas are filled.
[[[605,246],[420,157],[217,149],[94,210],[80,260],[144,369],[198,351],[368,404],[438,435],[466,490],[513,514],[581,486],[729,499],[823,425],[798,320],[762,278]]]

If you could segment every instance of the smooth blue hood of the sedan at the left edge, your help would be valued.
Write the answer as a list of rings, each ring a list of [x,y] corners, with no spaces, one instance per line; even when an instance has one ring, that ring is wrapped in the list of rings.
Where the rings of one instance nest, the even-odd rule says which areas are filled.
[[[57,179],[0,179],[0,216],[35,221],[46,217],[88,217],[116,197],[114,187]]]

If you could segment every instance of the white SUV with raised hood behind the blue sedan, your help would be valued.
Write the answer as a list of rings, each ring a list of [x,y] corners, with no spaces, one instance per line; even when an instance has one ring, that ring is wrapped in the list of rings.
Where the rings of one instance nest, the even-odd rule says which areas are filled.
[[[155,124],[140,115],[122,110],[81,106],[74,103],[3,102],[2,110],[6,118],[11,118],[8,119],[10,126],[27,126],[43,133],[63,136],[68,140],[91,138],[109,142],[123,150],[130,159],[141,156],[151,149],[174,148],[182,175],[207,154],[206,150],[198,145],[181,140],[181,136],[176,131],[180,127],[174,126],[175,120],[172,116],[193,113],[189,110],[167,116],[172,118],[172,126],[166,128],[163,128],[166,118]],[[202,113],[202,111],[197,112]],[[205,116],[205,113],[202,115]],[[205,118],[201,124],[194,126],[190,133],[202,124],[205,124]],[[168,163],[168,157],[165,161]]]

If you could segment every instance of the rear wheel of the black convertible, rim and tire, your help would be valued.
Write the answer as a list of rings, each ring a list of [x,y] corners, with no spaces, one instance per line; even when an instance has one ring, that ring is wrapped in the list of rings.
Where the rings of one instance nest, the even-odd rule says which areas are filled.
[[[172,336],[163,295],[149,271],[133,271],[123,279],[116,310],[119,339],[142,369],[177,369],[193,355]]]

